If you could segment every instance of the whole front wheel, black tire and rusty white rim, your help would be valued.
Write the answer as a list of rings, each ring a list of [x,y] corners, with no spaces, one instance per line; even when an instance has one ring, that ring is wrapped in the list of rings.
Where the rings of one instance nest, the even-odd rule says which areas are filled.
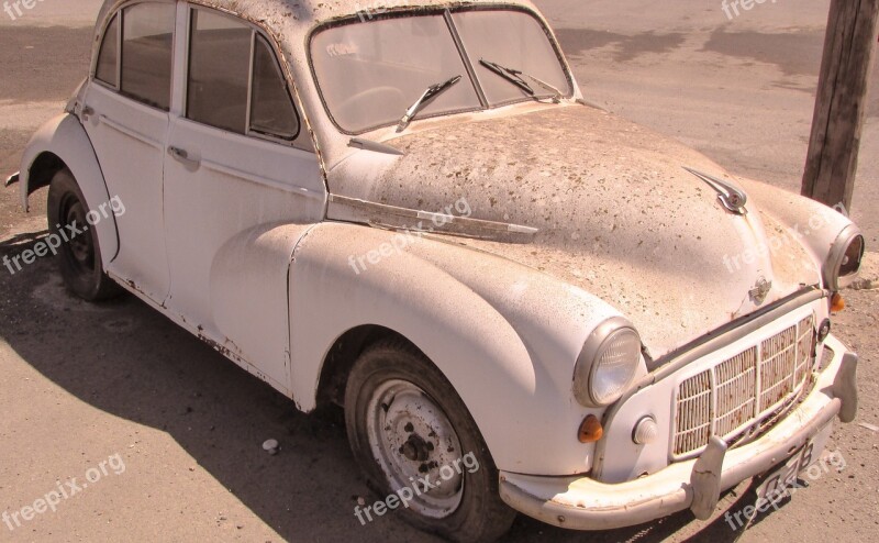
[[[358,358],[345,390],[354,456],[385,505],[455,541],[492,541],[515,512],[500,499],[498,468],[454,387],[416,348],[383,341]],[[378,502],[377,502],[378,503]],[[393,507],[391,507],[393,506]]]

